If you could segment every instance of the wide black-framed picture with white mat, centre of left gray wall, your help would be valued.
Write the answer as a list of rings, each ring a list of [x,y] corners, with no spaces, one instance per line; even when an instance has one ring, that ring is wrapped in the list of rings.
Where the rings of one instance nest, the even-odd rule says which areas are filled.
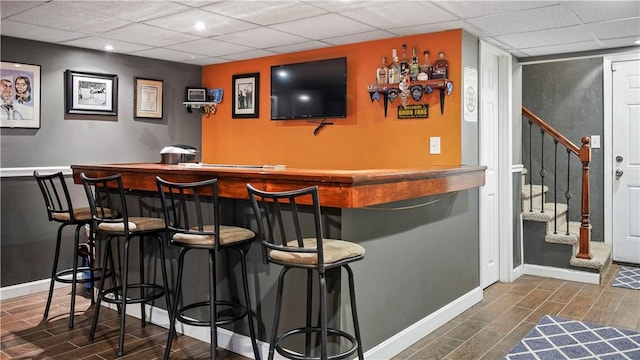
[[[118,76],[65,71],[67,114],[118,115]]]

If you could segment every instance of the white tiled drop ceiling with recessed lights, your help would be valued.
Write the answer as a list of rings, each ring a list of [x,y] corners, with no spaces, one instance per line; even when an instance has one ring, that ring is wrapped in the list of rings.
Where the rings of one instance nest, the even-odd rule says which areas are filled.
[[[1,0],[0,13],[5,36],[198,65],[457,28],[518,58],[640,40],[638,0]]]

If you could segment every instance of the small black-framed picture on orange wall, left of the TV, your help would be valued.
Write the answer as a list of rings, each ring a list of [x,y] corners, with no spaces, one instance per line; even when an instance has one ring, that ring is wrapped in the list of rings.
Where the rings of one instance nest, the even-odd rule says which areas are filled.
[[[233,118],[257,118],[260,114],[260,73],[233,75]]]

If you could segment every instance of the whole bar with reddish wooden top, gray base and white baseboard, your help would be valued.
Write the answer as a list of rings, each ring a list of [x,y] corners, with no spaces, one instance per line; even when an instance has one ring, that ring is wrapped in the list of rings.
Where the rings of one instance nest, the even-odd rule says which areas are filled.
[[[274,191],[317,185],[328,219],[325,236],[354,241],[366,249],[364,260],[352,268],[367,359],[392,358],[482,300],[478,188],[484,185],[484,166],[323,170],[126,163],[71,168],[76,183],[81,183],[81,173],[89,177],[122,174],[125,189],[149,197],[157,192],[156,176],[175,182],[216,177],[220,196],[232,205],[232,221],[250,228],[247,183]],[[272,325],[277,271],[262,263],[257,243],[251,246],[247,261],[254,306],[260,309],[256,309],[256,321],[264,329],[258,333],[264,351]],[[193,281],[192,289],[206,281],[203,269],[187,275]],[[233,264],[228,271],[237,272]],[[296,275],[300,279],[292,284],[302,284],[298,281],[304,276]],[[348,293],[343,288],[346,282],[331,284],[342,288],[336,293]],[[292,296],[290,301],[296,298]],[[348,297],[330,300],[335,304],[343,301],[348,303]],[[289,310],[288,321],[304,316],[295,306]],[[337,313],[333,321],[344,318]],[[240,346],[227,346],[238,344],[233,339],[242,339],[248,328],[228,330],[231,335],[219,336],[219,346],[251,357],[247,337]]]

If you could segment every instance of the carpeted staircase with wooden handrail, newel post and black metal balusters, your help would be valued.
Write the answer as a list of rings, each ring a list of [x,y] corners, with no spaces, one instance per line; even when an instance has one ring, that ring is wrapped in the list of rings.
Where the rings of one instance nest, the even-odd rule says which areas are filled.
[[[523,114],[530,119],[535,117],[533,113],[524,107]],[[611,245],[599,241],[590,241],[591,224],[589,222],[588,174],[590,149],[588,148],[588,141],[583,144],[583,149],[577,148],[568,140],[564,139],[562,135],[554,134],[555,130],[550,128],[548,124],[544,123],[541,119],[536,117],[535,121],[536,125],[540,126],[538,124],[540,123],[545,127],[545,131],[541,132],[542,136],[548,133],[556,139],[556,142],[559,142],[558,137],[568,142],[569,146],[567,146],[567,149],[579,156],[579,160],[583,163],[583,169],[586,169],[586,171],[583,171],[583,186],[581,189],[583,192],[582,209],[568,209],[567,204],[553,202],[553,199],[547,198],[546,193],[549,191],[548,186],[528,184],[528,170],[524,169],[522,173],[521,196],[524,263],[549,268],[597,273],[600,275],[600,282],[602,282],[602,274],[605,273],[611,263]],[[530,120],[530,127],[532,125],[531,123],[532,121]],[[584,151],[585,145],[588,151]],[[571,146],[573,146],[573,148],[571,148]],[[527,151],[530,154],[532,151],[536,151],[536,149],[525,149],[525,154]],[[545,173],[544,167],[541,172],[543,174]],[[556,189],[556,193],[557,192],[558,190]],[[576,191],[572,189],[571,193],[579,194],[580,190]],[[549,200],[552,201],[549,202]],[[577,214],[581,212],[582,221],[569,221],[571,217],[568,216],[568,212],[572,213],[572,218],[577,217]]]

